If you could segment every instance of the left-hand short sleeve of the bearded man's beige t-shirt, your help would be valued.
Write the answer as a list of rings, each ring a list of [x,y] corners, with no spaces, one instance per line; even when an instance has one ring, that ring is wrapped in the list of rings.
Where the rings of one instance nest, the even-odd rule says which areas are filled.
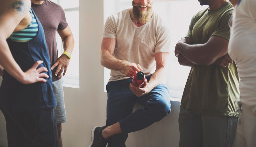
[[[116,23],[113,15],[107,18],[104,26],[103,38],[116,38]]]

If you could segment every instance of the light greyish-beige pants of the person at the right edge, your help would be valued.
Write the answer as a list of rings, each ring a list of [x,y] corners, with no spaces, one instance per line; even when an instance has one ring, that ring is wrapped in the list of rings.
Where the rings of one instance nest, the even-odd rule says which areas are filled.
[[[234,147],[256,146],[256,105],[242,104]]]

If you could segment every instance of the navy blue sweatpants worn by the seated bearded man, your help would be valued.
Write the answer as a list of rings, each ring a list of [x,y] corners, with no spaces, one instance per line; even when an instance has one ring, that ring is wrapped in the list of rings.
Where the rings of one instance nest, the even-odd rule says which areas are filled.
[[[146,77],[148,82],[150,77]],[[110,137],[108,147],[125,147],[128,133],[142,130],[160,121],[171,111],[169,90],[164,84],[156,86],[144,96],[137,97],[130,90],[131,82],[132,79],[129,78],[111,81],[106,85],[108,92],[106,125],[120,122],[123,132]],[[132,113],[136,101],[143,107]]]

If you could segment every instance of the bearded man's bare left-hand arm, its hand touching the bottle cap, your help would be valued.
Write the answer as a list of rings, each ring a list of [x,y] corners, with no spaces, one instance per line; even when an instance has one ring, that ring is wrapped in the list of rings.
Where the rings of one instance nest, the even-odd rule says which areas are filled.
[[[112,54],[115,50],[115,38],[103,38],[101,43],[100,63],[111,70],[123,70],[125,75],[132,78],[136,72],[142,71],[139,64],[116,59]]]

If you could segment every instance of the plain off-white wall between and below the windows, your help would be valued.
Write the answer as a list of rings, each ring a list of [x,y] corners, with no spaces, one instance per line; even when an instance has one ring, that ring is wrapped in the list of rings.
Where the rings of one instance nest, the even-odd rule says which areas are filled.
[[[103,1],[80,1],[80,89],[64,87],[67,122],[62,126],[63,147],[84,147],[91,142],[91,129],[106,120],[103,67],[99,63],[103,34]],[[0,81],[1,82],[1,81]],[[127,147],[178,147],[180,102],[152,126],[130,133]],[[139,108],[138,104],[135,109]],[[7,146],[5,119],[0,114],[0,145]]]

